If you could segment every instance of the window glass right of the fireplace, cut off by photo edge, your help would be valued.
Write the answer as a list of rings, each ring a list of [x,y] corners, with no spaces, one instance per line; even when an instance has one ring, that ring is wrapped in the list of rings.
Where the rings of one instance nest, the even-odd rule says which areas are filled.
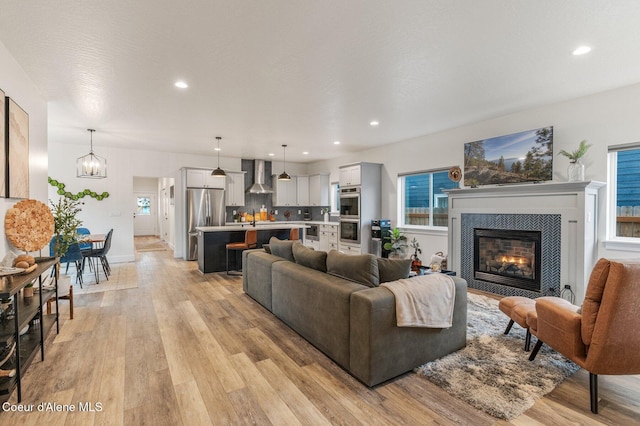
[[[640,239],[640,144],[609,147],[609,235]],[[640,242],[640,240],[638,240]]]

